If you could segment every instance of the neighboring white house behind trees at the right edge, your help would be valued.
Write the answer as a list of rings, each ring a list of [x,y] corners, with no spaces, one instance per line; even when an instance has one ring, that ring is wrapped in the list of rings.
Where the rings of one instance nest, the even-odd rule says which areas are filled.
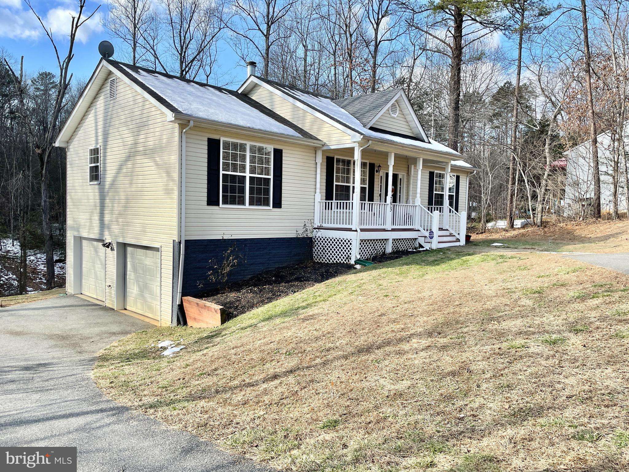
[[[629,131],[629,130],[628,130]],[[625,156],[620,140],[610,132],[598,135],[599,175],[601,177],[601,211],[610,213],[613,209],[614,183],[613,159],[618,160],[619,174],[616,182],[618,211],[626,211]],[[627,148],[629,152],[629,147]],[[592,211],[594,199],[594,173],[592,145],[589,140],[567,150],[565,153],[565,216],[582,216]]]

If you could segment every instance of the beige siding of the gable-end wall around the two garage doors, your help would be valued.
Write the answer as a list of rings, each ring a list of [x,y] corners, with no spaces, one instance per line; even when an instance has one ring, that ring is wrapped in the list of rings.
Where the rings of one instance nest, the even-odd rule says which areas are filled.
[[[66,283],[73,286],[73,236],[159,246],[160,322],[167,325],[177,239],[177,125],[120,78],[109,101],[109,77],[68,143]],[[94,145],[101,147],[101,183],[90,185],[87,155]],[[106,250],[105,264],[105,301],[114,308],[115,251]]]

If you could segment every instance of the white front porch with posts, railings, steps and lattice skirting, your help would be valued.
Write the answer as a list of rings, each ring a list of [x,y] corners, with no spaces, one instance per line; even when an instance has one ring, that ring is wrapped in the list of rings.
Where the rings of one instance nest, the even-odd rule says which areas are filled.
[[[365,146],[366,147],[366,146]],[[383,174],[386,179],[380,179],[379,192],[376,193],[374,176],[369,175],[365,191],[353,191],[354,183],[363,183],[365,179],[365,166],[361,165],[362,150],[365,147],[355,145],[353,147],[352,180],[350,184],[347,176],[345,180],[338,179],[335,169],[333,175],[326,172],[326,196],[321,198],[321,164],[323,150],[317,154],[317,179],[315,194],[315,218],[313,232],[313,256],[318,262],[350,262],[357,259],[369,259],[388,252],[408,249],[437,249],[442,247],[464,245],[466,230],[466,212],[456,211],[452,201],[459,203],[459,179],[457,177],[456,199],[443,196],[443,205],[425,205],[426,200],[433,203],[432,195],[428,189],[423,188],[422,180],[428,181],[427,172],[423,172],[424,157],[412,155],[396,156],[395,152],[386,152],[387,168],[378,169],[376,173]],[[377,150],[371,150],[370,161],[377,162]],[[338,151],[337,151],[338,152]],[[398,163],[396,164],[396,157]],[[343,159],[347,157],[328,157],[330,159]],[[448,189],[450,184],[450,161],[436,161],[432,156],[426,159],[432,168],[442,166],[445,174],[443,188]],[[403,161],[403,166],[399,161]],[[375,165],[375,163],[374,163]],[[397,166],[394,169],[394,166]],[[337,166],[338,167],[338,164]],[[347,168],[347,163],[345,163]],[[382,167],[382,166],[379,166]],[[401,170],[408,168],[408,173],[401,175]],[[438,167],[437,167],[438,168]],[[327,169],[326,169],[327,170]],[[386,172],[381,172],[386,171]],[[397,172],[394,172],[397,170]],[[372,173],[372,169],[369,170]],[[435,172],[431,172],[434,174]],[[396,177],[394,177],[396,176]],[[399,179],[396,181],[396,179]],[[342,183],[338,183],[339,180]],[[384,181],[384,182],[383,182]],[[467,177],[466,177],[467,181]],[[335,191],[330,190],[333,185]],[[467,185],[467,182],[466,182]],[[338,187],[350,187],[350,191],[340,192]],[[434,186],[430,192],[434,192]],[[467,189],[467,186],[466,186]],[[330,199],[342,194],[351,199]],[[375,194],[375,195],[374,195]],[[377,195],[377,196],[376,196]],[[384,199],[384,201],[364,201],[365,199]],[[424,201],[424,204],[422,203]],[[465,196],[467,201],[467,196]],[[464,207],[465,208],[465,207]]]

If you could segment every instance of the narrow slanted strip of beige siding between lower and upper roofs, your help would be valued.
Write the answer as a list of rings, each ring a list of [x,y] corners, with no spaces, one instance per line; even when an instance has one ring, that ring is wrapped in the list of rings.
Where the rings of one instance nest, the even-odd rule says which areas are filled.
[[[278,115],[284,116],[287,120],[315,135],[328,145],[348,143],[350,141],[350,136],[347,133],[317,118],[308,111],[302,110],[265,87],[256,85],[248,93],[248,96],[270,110],[275,111]]]

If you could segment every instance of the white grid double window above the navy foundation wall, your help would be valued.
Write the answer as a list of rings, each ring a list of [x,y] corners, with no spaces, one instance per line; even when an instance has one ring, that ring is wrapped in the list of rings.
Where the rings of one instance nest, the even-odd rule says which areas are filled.
[[[223,139],[221,206],[271,206],[273,148]]]

